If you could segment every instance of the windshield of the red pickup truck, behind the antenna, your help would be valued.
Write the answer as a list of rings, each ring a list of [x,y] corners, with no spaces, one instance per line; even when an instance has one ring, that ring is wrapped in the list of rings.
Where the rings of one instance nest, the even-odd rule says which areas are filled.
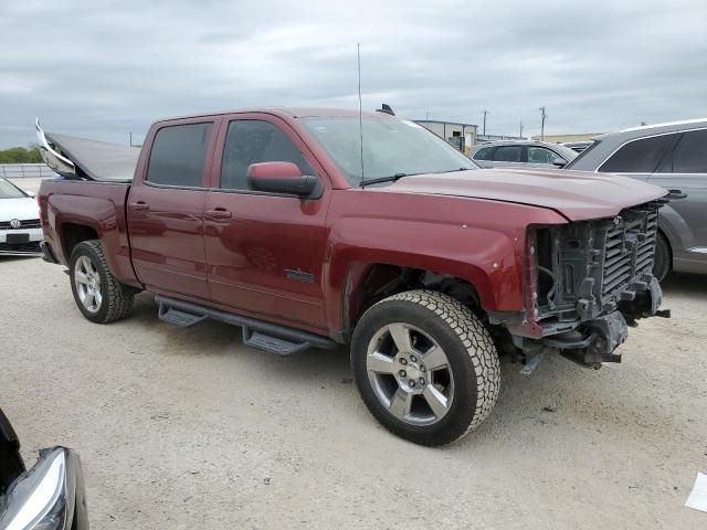
[[[477,169],[472,160],[424,127],[397,118],[363,117],[365,181],[403,174]],[[302,118],[351,186],[361,182],[358,116]]]

